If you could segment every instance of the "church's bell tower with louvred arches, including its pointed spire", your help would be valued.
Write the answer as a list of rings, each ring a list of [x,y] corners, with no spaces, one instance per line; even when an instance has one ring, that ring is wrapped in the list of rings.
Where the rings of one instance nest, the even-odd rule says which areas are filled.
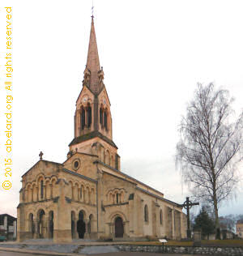
[[[96,43],[94,17],[83,71],[83,88],[76,100],[75,139],[69,144],[70,157],[75,151],[99,156],[99,160],[120,169],[120,157],[113,143],[109,96],[104,86],[104,71]]]

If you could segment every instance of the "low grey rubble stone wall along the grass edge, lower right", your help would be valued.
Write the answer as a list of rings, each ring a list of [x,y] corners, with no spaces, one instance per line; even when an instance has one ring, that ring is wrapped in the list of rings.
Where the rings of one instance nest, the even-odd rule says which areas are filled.
[[[117,249],[126,252],[147,252],[167,254],[204,254],[243,256],[243,247],[194,247],[194,246],[169,246],[165,245],[116,245]]]

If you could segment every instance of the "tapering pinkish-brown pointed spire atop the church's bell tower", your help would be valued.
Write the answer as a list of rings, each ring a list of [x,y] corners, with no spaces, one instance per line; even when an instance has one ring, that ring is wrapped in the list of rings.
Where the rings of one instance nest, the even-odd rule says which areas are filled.
[[[100,60],[98,54],[98,48],[96,43],[96,32],[94,19],[92,16],[92,25],[90,31],[89,45],[87,51],[87,64],[84,70],[84,80],[83,83],[91,89],[92,92],[100,92],[100,88],[103,85],[104,73],[101,68],[100,70]]]

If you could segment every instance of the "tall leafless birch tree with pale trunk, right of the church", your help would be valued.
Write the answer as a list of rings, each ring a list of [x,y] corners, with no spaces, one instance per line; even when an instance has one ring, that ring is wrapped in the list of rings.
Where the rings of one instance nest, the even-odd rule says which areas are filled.
[[[177,165],[195,198],[213,206],[217,237],[218,209],[237,186],[237,163],[241,156],[243,112],[234,118],[233,99],[214,84],[198,83],[194,99],[180,124]]]

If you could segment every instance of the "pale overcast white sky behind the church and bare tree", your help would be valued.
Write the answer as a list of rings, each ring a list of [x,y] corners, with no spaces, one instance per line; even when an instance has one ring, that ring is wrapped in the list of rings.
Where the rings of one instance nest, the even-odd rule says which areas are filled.
[[[0,182],[5,142],[6,11],[13,7],[14,168],[0,213],[16,215],[21,176],[39,160],[62,163],[74,138],[91,25],[90,0],[0,3]],[[175,168],[178,124],[197,83],[214,82],[243,102],[242,1],[94,0],[100,65],[111,101],[122,171],[183,203]],[[242,166],[239,172],[242,173]],[[242,185],[242,184],[240,184]],[[243,211],[243,190],[220,215]],[[196,207],[195,207],[196,208]],[[196,210],[194,210],[196,211]]]

